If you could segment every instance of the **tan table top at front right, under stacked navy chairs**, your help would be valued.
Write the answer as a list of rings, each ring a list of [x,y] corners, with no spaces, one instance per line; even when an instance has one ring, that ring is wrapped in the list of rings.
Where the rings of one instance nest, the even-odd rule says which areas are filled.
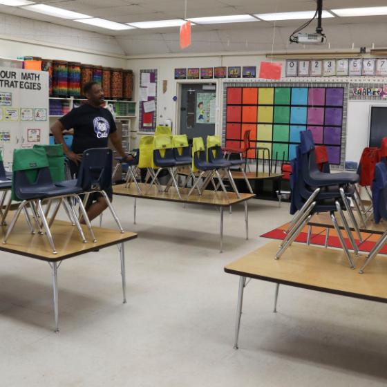
[[[366,267],[364,274],[358,270],[366,256],[356,259],[357,270],[351,270],[343,252],[294,243],[279,259],[274,259],[279,241],[267,243],[230,263],[225,272],[270,281],[341,294],[359,299],[387,303],[387,257],[377,256]]]

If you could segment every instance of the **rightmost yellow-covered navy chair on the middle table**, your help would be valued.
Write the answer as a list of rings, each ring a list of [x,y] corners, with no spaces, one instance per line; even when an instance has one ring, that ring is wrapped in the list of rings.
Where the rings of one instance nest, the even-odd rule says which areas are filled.
[[[252,186],[250,185],[249,179],[247,179],[245,168],[243,167],[243,164],[245,164],[245,160],[241,158],[240,160],[229,160],[223,158],[223,151],[220,147],[220,136],[218,135],[208,135],[207,136],[207,158],[209,162],[212,163],[222,163],[225,165],[225,171],[227,173],[227,176],[229,178],[229,181],[232,185],[232,188],[234,189],[235,193],[239,197],[238,189],[236,189],[236,185],[234,182],[234,178],[232,178],[232,173],[230,168],[236,167],[242,172],[243,178],[245,179],[247,188],[249,189],[250,193],[253,193]]]

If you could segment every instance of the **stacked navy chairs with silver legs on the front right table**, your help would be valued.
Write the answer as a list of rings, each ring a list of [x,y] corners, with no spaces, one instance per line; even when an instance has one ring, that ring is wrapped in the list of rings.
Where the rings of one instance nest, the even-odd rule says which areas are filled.
[[[353,268],[352,257],[337,223],[335,213],[339,214],[352,248],[357,255],[359,250],[343,214],[343,210],[348,211],[352,225],[361,240],[359,227],[347,198],[347,196],[353,196],[353,187],[357,182],[359,182],[359,175],[357,173],[325,173],[319,171],[318,165],[315,162],[312,133],[310,131],[301,132],[301,144],[297,147],[296,158],[292,160],[292,175],[290,178],[290,187],[292,189],[290,211],[295,216],[287,229],[287,236],[276,253],[276,258],[278,259],[282,256],[303,227],[308,224],[313,214],[329,212],[341,246],[348,258],[350,267]]]

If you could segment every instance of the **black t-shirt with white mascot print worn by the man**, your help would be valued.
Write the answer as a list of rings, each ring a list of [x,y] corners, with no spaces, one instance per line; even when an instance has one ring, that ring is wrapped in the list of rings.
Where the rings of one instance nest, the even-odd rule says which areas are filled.
[[[71,150],[83,153],[90,148],[106,148],[108,135],[117,130],[113,115],[106,108],[82,104],[79,108],[59,118],[64,129],[74,128],[74,138]]]

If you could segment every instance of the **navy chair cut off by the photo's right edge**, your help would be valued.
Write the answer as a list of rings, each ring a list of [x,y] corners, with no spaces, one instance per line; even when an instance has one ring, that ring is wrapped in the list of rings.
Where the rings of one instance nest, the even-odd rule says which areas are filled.
[[[378,162],[375,165],[375,178],[372,182],[372,207],[375,223],[379,223],[381,219],[387,220],[387,167],[385,162]],[[366,262],[359,270],[360,274],[364,272],[364,268],[377,256],[386,242],[387,231],[379,238],[368,254]]]

